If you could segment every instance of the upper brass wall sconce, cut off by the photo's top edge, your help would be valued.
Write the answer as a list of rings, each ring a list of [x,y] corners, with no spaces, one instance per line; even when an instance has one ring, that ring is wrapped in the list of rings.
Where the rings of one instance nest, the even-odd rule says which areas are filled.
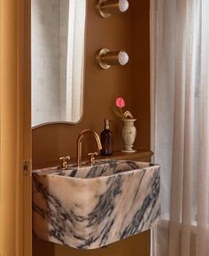
[[[128,0],[99,0],[96,9],[103,18],[107,18],[113,13],[127,12],[128,6]]]

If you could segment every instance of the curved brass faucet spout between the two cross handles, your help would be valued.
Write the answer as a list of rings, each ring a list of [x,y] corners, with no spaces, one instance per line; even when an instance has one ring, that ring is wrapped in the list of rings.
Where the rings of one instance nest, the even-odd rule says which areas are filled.
[[[101,142],[100,142],[100,139],[99,139],[99,136],[97,134],[97,132],[91,130],[91,129],[85,129],[83,130],[80,134],[79,134],[79,137],[78,137],[78,140],[77,140],[77,165],[80,166],[81,165],[81,154],[82,154],[82,144],[81,144],[81,141],[83,139],[83,137],[86,135],[86,134],[92,134],[93,137],[95,138],[95,140],[97,141],[97,148],[100,150],[102,149],[102,145],[101,145]]]

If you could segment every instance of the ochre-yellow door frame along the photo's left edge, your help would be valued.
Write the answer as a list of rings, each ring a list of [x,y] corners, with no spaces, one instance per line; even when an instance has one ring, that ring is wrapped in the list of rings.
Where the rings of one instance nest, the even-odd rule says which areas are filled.
[[[30,0],[0,2],[0,255],[32,255]]]

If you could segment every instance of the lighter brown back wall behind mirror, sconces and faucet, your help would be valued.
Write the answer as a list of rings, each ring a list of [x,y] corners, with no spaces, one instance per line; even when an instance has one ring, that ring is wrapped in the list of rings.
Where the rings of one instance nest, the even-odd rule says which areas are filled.
[[[112,101],[117,96],[122,95],[130,108],[130,63],[122,68],[116,66],[103,70],[95,61],[97,50],[103,47],[130,52],[130,12],[102,19],[95,12],[94,4],[94,0],[88,1],[84,116],[80,124],[53,124],[35,129],[34,164],[57,159],[58,156],[75,156],[76,139],[81,130],[90,128],[100,133],[105,117],[114,121],[114,134],[120,133],[119,118],[112,113]],[[114,136],[114,148],[121,147],[120,136]]]

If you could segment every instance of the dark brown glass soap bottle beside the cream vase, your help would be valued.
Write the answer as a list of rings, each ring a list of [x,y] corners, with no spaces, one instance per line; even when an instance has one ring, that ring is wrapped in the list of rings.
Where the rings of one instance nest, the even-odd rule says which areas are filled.
[[[104,119],[104,131],[100,134],[102,144],[101,155],[111,156],[113,152],[113,134],[110,131],[110,121]]]

